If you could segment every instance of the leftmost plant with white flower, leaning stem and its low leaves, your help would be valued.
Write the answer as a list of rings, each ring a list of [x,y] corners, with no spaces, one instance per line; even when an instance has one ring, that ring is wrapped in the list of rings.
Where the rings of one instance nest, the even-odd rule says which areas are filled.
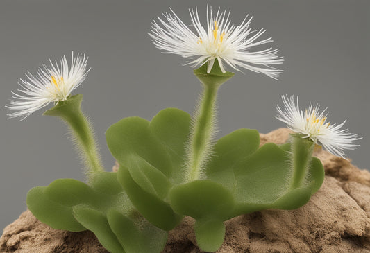
[[[72,232],[86,229],[94,232],[110,252],[160,252],[167,232],[148,223],[133,207],[117,181],[117,173],[101,166],[92,128],[81,112],[82,95],[71,92],[85,80],[87,58],[72,55],[70,66],[65,57],[51,67],[43,65],[14,94],[7,107],[16,112],[9,117],[26,118],[36,110],[55,103],[44,112],[65,121],[83,155],[87,182],[73,179],[55,180],[49,186],[38,186],[28,192],[27,206],[33,215],[55,229]]]

